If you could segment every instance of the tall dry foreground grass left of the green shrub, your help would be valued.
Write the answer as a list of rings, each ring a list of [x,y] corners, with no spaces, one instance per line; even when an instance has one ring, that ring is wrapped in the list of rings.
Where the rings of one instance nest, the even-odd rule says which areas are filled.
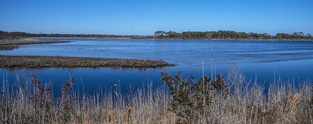
[[[3,80],[1,124],[175,123],[175,115],[167,110],[170,96],[165,86],[153,89],[149,83],[130,93],[116,86],[87,95],[71,90],[74,81],[69,79],[62,87],[62,98],[53,98],[50,83],[43,84],[36,76],[16,79],[16,88]]]

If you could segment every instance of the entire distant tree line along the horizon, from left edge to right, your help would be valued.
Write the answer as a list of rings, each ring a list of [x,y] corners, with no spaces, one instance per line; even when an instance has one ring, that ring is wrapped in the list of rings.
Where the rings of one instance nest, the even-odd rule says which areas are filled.
[[[129,38],[129,39],[200,39],[200,40],[313,40],[311,34],[303,32],[277,33],[271,36],[268,33],[258,34],[253,32],[235,32],[235,31],[156,31],[154,36],[146,35],[104,35],[104,34],[32,34],[26,32],[7,32],[0,30],[0,40],[14,40],[26,37],[82,37],[82,38]]]

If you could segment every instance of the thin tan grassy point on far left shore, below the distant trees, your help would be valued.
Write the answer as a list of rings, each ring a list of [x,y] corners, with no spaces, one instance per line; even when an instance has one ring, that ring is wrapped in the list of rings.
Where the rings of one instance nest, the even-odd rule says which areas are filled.
[[[68,43],[70,41],[45,41],[29,38],[12,39],[12,40],[0,40],[0,45],[27,45],[27,44],[49,44],[49,43]]]

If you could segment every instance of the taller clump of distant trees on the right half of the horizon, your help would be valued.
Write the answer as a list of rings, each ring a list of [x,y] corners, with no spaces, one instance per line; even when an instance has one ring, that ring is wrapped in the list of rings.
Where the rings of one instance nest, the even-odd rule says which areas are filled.
[[[258,34],[253,32],[235,32],[235,31],[183,31],[181,33],[175,31],[156,31],[155,37],[159,39],[225,39],[225,40],[235,40],[235,39],[254,39],[254,40],[312,40],[311,34],[303,34],[303,32],[293,32],[288,33],[277,33],[275,36],[271,36],[268,33]]]

